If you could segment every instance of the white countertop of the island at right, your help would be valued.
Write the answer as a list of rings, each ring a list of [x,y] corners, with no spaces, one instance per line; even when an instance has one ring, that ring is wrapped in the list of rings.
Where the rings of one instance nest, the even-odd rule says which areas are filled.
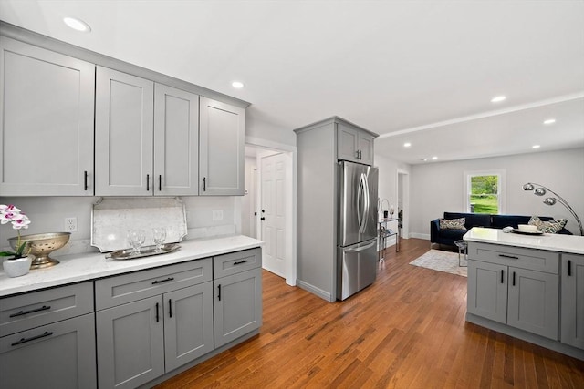
[[[550,234],[524,235],[498,229],[474,227],[464,234],[464,241],[479,241],[527,249],[584,254],[584,237],[578,235]]]

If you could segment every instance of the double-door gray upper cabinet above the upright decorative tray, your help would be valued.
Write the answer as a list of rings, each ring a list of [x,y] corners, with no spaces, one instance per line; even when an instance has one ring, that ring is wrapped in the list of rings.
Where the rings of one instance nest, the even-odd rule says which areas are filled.
[[[98,67],[96,195],[198,193],[199,96]]]

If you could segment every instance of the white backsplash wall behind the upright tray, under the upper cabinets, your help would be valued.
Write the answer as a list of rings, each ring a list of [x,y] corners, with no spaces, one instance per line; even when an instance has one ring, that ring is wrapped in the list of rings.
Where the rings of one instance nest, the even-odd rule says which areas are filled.
[[[76,217],[78,231],[71,234],[68,245],[59,250],[56,255],[95,251],[89,248],[91,236],[91,209],[99,198],[78,197],[0,197],[2,204],[15,204],[24,211],[31,220],[29,228],[22,230],[21,234],[34,234],[44,232],[61,232],[65,230],[65,218]],[[241,230],[241,216],[239,197],[183,197],[186,215],[188,236],[185,239],[213,237],[225,234],[233,234]],[[213,220],[213,210],[223,210],[223,220]],[[155,223],[155,220],[153,220]],[[7,249],[8,238],[16,236],[9,224],[0,226],[0,251]]]

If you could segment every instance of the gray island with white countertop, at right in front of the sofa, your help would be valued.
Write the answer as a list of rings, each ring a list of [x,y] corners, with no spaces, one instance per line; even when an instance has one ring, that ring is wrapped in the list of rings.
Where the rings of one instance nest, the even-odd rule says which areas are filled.
[[[466,321],[584,360],[584,237],[474,227]]]

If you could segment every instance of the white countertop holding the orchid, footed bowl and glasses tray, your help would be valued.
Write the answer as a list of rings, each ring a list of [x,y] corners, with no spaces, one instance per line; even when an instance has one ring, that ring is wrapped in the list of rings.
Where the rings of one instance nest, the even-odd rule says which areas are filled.
[[[10,278],[0,268],[0,297],[20,292],[31,292],[72,282],[94,280],[130,271],[141,271],[158,266],[212,257],[226,252],[260,247],[263,242],[243,235],[223,238],[183,241],[181,248],[168,254],[134,260],[106,259],[105,253],[89,253],[58,256],[56,266],[31,270],[21,277]]]

